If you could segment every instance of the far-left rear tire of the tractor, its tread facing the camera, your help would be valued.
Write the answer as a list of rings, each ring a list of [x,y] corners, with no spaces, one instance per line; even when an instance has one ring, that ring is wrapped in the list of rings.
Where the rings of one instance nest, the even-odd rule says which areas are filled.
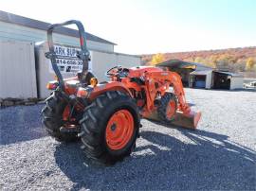
[[[46,99],[46,106],[42,110],[42,122],[47,133],[60,142],[73,142],[78,140],[77,132],[61,132],[64,126],[63,113],[67,102],[59,96],[58,91],[54,91]]]

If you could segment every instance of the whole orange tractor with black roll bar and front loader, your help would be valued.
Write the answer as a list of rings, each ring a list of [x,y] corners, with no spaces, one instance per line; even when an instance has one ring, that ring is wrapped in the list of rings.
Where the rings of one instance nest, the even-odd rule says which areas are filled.
[[[63,78],[54,51],[54,28],[75,24],[79,28],[82,71],[74,78]],[[195,129],[201,113],[192,113],[186,102],[181,78],[174,72],[157,67],[116,66],[107,71],[109,81],[98,82],[88,72],[89,51],[84,28],[79,21],[49,26],[49,52],[57,80],[50,81],[52,90],[43,109],[46,131],[59,141],[82,141],[89,158],[113,164],[130,155],[139,136],[140,118],[156,119]],[[174,91],[170,92],[173,87]]]

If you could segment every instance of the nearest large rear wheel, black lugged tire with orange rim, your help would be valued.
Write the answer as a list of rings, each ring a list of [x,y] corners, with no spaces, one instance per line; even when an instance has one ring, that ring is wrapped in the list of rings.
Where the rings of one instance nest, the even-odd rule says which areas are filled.
[[[85,108],[80,124],[82,150],[105,165],[123,160],[136,147],[140,125],[137,104],[122,92],[98,96]]]

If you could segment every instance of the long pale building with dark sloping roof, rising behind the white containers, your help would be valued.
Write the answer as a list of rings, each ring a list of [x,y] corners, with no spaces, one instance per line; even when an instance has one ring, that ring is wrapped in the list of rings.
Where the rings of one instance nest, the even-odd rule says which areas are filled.
[[[49,25],[50,24],[46,22],[0,10],[1,41],[44,42],[46,41],[46,29]],[[56,43],[79,46],[78,37],[79,34],[77,30],[60,27],[56,28],[54,41]],[[90,33],[86,33],[86,38],[88,49],[90,50],[114,52],[114,45],[117,45],[116,43],[111,43]]]

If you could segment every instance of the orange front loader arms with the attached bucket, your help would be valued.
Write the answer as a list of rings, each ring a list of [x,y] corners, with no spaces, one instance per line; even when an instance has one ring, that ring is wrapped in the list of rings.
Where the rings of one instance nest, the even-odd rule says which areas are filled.
[[[178,99],[173,124],[175,126],[195,130],[201,118],[201,113],[193,112],[187,103],[180,76],[171,71],[152,71],[146,72],[144,78],[147,94],[147,111],[142,113],[142,115],[148,119],[161,121],[157,113],[153,110],[154,100],[159,94],[164,96],[171,86],[174,87],[174,95]],[[155,87],[155,82],[159,84],[159,87]]]

